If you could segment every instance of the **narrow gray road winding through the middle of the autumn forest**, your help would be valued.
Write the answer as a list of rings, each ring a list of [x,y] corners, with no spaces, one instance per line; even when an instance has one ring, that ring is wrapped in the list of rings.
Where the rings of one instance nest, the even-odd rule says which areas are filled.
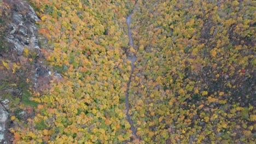
[[[133,13],[133,10],[131,12],[131,14],[129,14],[127,17],[126,17],[126,23],[127,23],[127,27],[128,27],[128,36],[129,36],[129,40],[130,40],[130,46],[137,50],[133,44],[133,39],[132,39],[132,33],[131,33],[131,28],[130,28],[130,24],[131,24],[131,16],[132,16],[132,13]],[[127,89],[126,89],[126,94],[125,94],[125,106],[126,106],[126,117],[127,117],[127,120],[128,122],[130,123],[131,125],[131,130],[132,130],[132,134],[133,136],[136,137],[136,139],[139,139],[139,137],[137,136],[136,134],[136,128],[134,127],[133,125],[133,122],[132,122],[132,119],[131,119],[131,116],[129,115],[129,110],[130,110],[130,107],[129,107],[129,90],[130,90],[130,83],[131,83],[131,78],[132,78],[132,75],[133,75],[133,71],[134,71],[134,68],[135,68],[135,65],[134,63],[136,62],[137,60],[137,57],[135,56],[135,53],[130,53],[128,54],[128,59],[129,61],[131,61],[131,65],[132,65],[132,70],[131,70],[131,73],[130,73],[130,77],[129,77],[129,81],[127,83]]]

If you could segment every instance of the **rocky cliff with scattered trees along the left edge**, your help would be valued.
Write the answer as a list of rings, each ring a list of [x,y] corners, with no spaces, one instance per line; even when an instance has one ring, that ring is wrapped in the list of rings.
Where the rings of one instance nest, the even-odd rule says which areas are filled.
[[[31,106],[28,96],[43,92],[51,72],[43,64],[36,27],[39,18],[31,5],[25,0],[0,0],[0,16],[0,141],[11,143],[10,117],[33,116],[12,107],[24,101]]]

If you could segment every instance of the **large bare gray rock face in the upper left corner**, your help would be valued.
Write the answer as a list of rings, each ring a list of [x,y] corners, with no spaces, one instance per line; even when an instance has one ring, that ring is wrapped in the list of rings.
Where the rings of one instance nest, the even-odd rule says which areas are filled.
[[[12,22],[9,24],[9,34],[6,39],[13,44],[14,50],[18,52],[18,56],[22,55],[25,47],[39,49],[37,39],[37,28],[35,22],[39,21],[33,8],[23,0],[12,1],[16,5],[16,9],[12,10]],[[20,14],[19,11],[26,11]]]

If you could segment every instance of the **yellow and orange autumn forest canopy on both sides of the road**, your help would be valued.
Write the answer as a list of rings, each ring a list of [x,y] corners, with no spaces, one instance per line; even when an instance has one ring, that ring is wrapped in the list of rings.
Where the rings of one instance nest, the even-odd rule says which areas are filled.
[[[35,117],[13,119],[15,142],[132,142],[124,101],[133,8],[129,113],[140,142],[255,142],[255,2],[31,3],[46,62],[62,78],[33,98]]]

